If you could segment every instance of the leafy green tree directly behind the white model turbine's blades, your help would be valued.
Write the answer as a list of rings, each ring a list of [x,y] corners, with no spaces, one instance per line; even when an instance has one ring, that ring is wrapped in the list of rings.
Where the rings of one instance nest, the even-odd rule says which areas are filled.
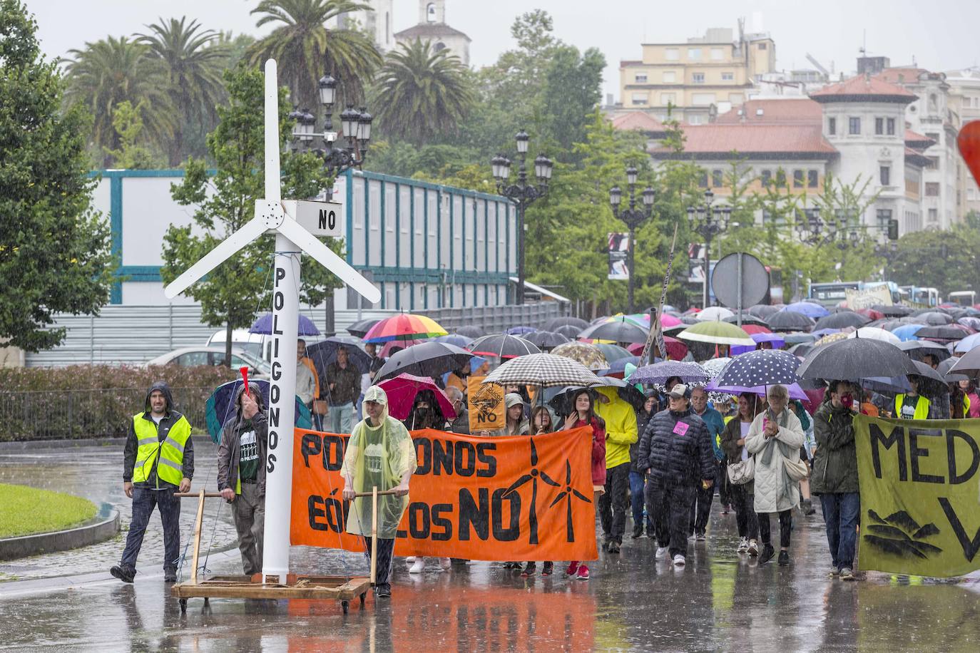
[[[255,201],[265,196],[264,75],[259,70],[227,70],[224,82],[228,104],[218,109],[220,121],[208,135],[208,152],[218,168],[210,176],[203,160],[190,159],[183,183],[173,184],[173,199],[195,207],[193,225],[172,225],[164,236],[161,275],[170,283],[199,258],[241,228],[255,214]],[[292,124],[286,92],[279,89],[279,138],[285,149]],[[284,153],[282,195],[310,198],[330,182],[312,154]],[[200,234],[200,235],[199,235]],[[339,241],[327,245],[338,254]],[[225,356],[230,360],[231,331],[249,326],[256,311],[270,306],[270,272],[274,238],[263,236],[225,260],[205,280],[187,291],[201,303],[201,318],[209,326],[225,326]],[[301,300],[318,304],[340,283],[318,262],[304,259]]]

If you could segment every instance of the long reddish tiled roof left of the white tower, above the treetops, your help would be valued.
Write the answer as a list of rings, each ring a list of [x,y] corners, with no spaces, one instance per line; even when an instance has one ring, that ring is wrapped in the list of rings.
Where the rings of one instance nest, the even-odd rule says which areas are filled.
[[[666,148],[655,148],[655,159],[728,157],[732,151],[743,155],[794,155],[806,159],[831,159],[837,150],[823,137],[819,125],[788,124],[706,124],[685,126],[684,152],[674,155]],[[788,158],[788,157],[787,157]]]

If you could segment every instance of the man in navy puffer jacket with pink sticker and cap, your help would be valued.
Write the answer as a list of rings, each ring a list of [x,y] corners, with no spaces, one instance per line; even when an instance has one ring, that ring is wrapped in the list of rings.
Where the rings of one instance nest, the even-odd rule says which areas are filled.
[[[691,409],[691,391],[676,384],[666,410],[654,415],[640,442],[637,466],[647,473],[647,510],[666,513],[670,541],[657,549],[657,558],[669,555],[683,567],[687,560],[687,527],[699,484],[714,483],[714,454],[705,422]]]

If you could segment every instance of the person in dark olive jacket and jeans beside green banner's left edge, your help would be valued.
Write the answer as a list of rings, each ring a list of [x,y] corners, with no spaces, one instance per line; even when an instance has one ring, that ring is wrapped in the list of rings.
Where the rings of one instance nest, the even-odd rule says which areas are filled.
[[[827,543],[833,567],[830,576],[854,580],[855,543],[858,539],[860,494],[858,450],[854,416],[858,402],[847,381],[833,381],[825,399],[813,414],[813,471],[810,491],[820,496]]]

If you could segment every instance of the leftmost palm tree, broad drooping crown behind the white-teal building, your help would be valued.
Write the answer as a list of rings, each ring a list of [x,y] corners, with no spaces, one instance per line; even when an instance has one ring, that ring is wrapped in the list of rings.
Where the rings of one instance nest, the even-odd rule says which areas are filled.
[[[120,135],[113,127],[113,112],[128,100],[134,106],[143,102],[141,118],[147,139],[163,146],[173,136],[175,120],[165,70],[150,56],[149,48],[125,36],[109,36],[85,43],[84,50],[70,50],[68,62],[68,104],[84,105],[95,117],[92,144],[104,153],[120,148]],[[111,156],[105,155],[108,165]]]

